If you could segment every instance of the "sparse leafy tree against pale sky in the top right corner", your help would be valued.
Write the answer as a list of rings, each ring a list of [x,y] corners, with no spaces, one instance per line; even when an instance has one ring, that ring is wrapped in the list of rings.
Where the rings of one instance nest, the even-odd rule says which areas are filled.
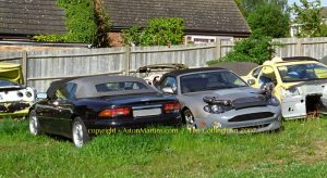
[[[293,3],[291,12],[295,15],[294,23],[299,26],[296,36],[299,37],[320,37],[326,36],[326,26],[322,20],[320,0],[308,2],[300,0],[301,4]]]

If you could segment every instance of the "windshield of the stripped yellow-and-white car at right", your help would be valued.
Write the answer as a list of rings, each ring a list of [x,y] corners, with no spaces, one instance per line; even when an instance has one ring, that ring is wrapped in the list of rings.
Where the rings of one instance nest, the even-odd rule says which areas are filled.
[[[316,63],[279,66],[278,71],[283,82],[327,79],[327,67]]]

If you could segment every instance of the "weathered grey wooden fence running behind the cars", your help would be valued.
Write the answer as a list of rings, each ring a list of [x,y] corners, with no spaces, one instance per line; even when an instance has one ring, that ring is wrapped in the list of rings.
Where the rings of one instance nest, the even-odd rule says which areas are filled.
[[[279,56],[327,55],[327,38],[276,39],[284,43],[277,48]],[[102,74],[130,75],[138,67],[159,63],[183,63],[189,67],[205,66],[207,61],[225,56],[232,40],[215,43],[173,47],[124,47],[105,49],[71,49],[19,51],[0,53],[0,61],[21,63],[28,86],[46,91],[56,79]],[[326,52],[325,52],[326,51]]]

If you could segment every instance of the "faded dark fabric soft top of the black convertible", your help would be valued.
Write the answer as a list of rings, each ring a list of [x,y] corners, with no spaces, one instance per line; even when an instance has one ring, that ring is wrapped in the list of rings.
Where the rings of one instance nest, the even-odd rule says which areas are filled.
[[[123,91],[108,91],[98,92],[96,90],[96,85],[108,84],[108,82],[123,82],[123,81],[137,81],[144,84],[147,88],[140,90],[123,90]],[[77,85],[75,97],[76,98],[96,98],[104,96],[121,96],[121,94],[133,94],[133,93],[144,93],[144,92],[157,92],[154,88],[148,86],[146,81],[141,78],[130,77],[130,76],[93,76],[93,77],[78,77],[78,78],[68,78],[51,82],[47,94],[52,97],[56,91],[64,86],[66,82],[73,82]]]

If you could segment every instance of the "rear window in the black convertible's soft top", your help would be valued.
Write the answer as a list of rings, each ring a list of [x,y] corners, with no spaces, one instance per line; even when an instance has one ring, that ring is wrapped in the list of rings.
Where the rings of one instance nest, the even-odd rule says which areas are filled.
[[[98,92],[110,92],[110,91],[124,91],[124,90],[142,90],[147,87],[137,81],[121,81],[121,82],[107,82],[96,85]]]

